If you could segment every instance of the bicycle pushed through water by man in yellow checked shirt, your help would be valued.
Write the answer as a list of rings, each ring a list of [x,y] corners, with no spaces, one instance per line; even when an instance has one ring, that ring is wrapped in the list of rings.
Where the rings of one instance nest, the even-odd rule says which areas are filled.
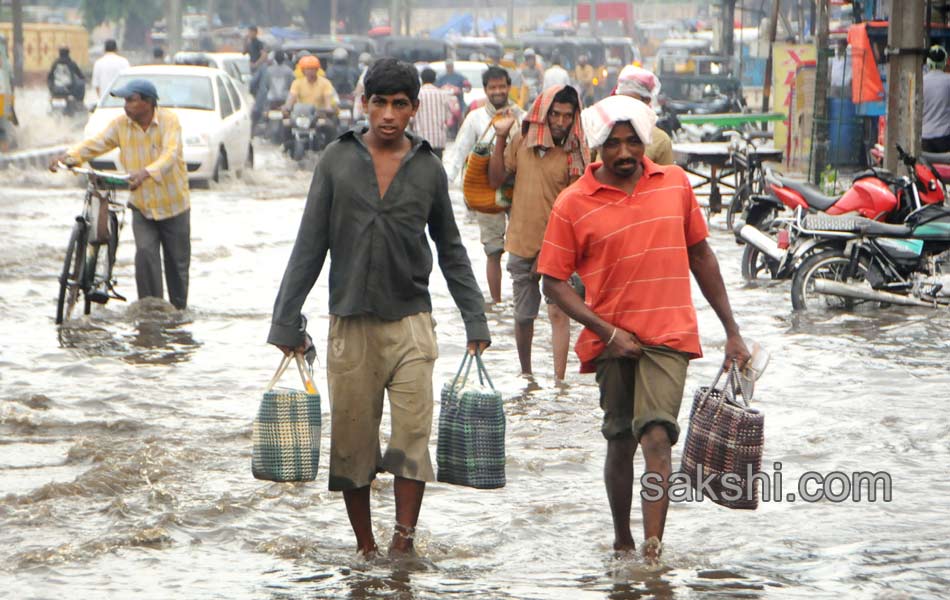
[[[61,325],[72,316],[80,293],[83,295],[85,315],[90,313],[93,303],[105,304],[110,299],[125,301],[125,297],[115,291],[112,268],[115,266],[119,233],[125,225],[125,204],[116,200],[116,188],[128,186],[129,174],[63,163],[58,163],[57,168],[87,178],[83,210],[76,216],[66,247],[63,272],[59,276],[56,324]],[[104,264],[101,264],[99,255],[103,246],[106,247],[106,254]]]

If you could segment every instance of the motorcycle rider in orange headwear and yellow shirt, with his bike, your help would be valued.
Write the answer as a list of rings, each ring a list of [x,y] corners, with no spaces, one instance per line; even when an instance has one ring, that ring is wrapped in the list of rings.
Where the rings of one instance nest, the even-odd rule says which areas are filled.
[[[291,123],[287,147],[299,161],[306,150],[322,150],[336,137],[337,95],[330,80],[317,73],[320,60],[316,56],[304,56],[297,66],[304,76],[290,85],[283,113]]]

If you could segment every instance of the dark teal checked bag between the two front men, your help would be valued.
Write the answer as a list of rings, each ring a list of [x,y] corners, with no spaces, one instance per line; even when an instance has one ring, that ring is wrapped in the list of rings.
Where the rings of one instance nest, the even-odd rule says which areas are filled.
[[[468,380],[472,363],[477,386]],[[438,480],[444,483],[505,487],[505,411],[480,355],[466,353],[455,378],[442,387],[436,460]]]

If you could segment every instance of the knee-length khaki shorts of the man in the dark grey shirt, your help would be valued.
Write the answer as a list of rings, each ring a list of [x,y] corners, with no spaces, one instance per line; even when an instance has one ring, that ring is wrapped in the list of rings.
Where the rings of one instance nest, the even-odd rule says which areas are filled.
[[[429,434],[439,346],[432,315],[399,321],[331,316],[327,346],[330,490],[365,487],[382,471],[434,481]],[[385,454],[379,443],[384,392],[392,420]]]

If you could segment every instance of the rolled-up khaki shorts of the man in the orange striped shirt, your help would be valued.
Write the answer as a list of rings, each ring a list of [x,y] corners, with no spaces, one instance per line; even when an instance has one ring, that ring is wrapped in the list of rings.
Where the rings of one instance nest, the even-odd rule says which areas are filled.
[[[659,423],[675,444],[687,355],[665,346],[646,346],[639,359],[597,358],[596,364],[604,437],[639,441],[649,425]]]

